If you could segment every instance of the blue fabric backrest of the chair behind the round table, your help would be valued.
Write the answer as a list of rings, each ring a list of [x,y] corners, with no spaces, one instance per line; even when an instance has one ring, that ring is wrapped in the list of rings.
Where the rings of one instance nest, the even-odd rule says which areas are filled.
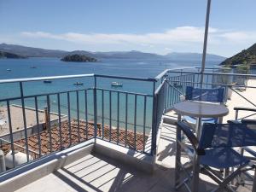
[[[202,102],[224,102],[224,88],[201,89],[187,86],[186,100]]]

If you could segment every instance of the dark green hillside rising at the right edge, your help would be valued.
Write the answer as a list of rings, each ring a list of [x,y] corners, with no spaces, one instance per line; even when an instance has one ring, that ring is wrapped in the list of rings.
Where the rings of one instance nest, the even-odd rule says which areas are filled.
[[[226,59],[220,65],[234,66],[234,65],[256,65],[256,44],[248,49],[242,50],[240,53]]]

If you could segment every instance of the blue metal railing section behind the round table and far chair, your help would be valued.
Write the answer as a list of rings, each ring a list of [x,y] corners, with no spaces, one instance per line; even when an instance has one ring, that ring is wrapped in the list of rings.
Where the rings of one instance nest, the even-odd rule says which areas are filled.
[[[224,102],[227,102],[229,99],[229,91],[231,90],[234,94],[240,96],[242,100],[256,107],[256,103],[241,94],[241,90],[256,88],[256,86],[249,86],[247,84],[248,79],[256,79],[255,74],[226,73],[219,67],[207,68],[205,73],[201,73],[200,67],[196,67],[166,70],[162,74],[162,77],[166,78],[168,82],[168,86],[166,87],[165,111],[171,110],[175,103],[180,102],[181,98],[185,96],[187,86],[201,88],[224,87]],[[203,77],[202,84],[201,77]]]

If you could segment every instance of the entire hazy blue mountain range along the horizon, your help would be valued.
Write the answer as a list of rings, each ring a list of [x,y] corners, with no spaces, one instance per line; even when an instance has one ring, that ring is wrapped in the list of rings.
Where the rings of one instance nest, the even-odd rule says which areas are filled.
[[[86,55],[96,59],[141,59],[141,60],[173,60],[173,61],[201,61],[201,54],[198,53],[170,53],[167,55],[157,55],[154,53],[144,53],[137,50],[131,51],[110,51],[110,52],[90,52],[85,50],[55,50],[32,48],[15,44],[0,44],[0,51],[8,51],[17,55],[29,57],[60,57],[65,55]],[[209,61],[224,61],[225,57],[219,55],[207,55]]]

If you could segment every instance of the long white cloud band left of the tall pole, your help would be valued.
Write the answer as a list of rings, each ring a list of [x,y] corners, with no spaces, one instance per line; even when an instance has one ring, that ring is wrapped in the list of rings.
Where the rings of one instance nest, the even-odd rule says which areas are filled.
[[[212,29],[216,31],[215,29]],[[52,38],[66,40],[79,44],[177,44],[199,43],[203,40],[204,28],[195,26],[182,26],[167,30],[166,32],[154,32],[144,34],[128,33],[77,33],[67,32],[53,34],[49,32],[21,32],[28,38]]]

